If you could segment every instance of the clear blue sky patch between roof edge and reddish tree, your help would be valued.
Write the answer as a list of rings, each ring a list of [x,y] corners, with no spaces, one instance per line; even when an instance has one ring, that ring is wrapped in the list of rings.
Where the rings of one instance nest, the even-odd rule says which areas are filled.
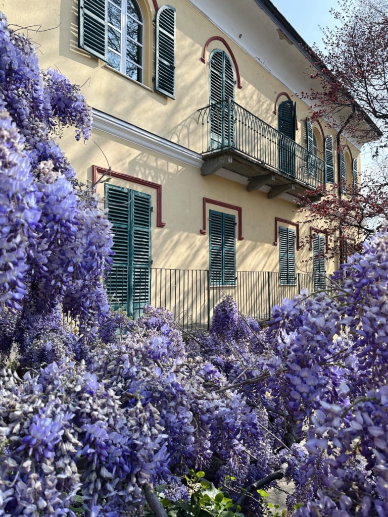
[[[287,18],[297,32],[312,45],[322,46],[319,27],[334,27],[335,21],[329,13],[337,7],[336,0],[272,0],[277,9]]]

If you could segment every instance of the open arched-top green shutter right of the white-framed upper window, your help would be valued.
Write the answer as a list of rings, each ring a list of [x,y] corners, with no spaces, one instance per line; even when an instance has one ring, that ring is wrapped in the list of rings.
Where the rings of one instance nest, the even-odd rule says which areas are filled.
[[[157,92],[175,99],[175,7],[163,5],[156,14]]]

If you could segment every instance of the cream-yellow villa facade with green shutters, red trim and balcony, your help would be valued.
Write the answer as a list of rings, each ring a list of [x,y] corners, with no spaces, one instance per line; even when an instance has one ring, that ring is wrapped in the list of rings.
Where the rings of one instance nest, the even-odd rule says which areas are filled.
[[[60,144],[80,181],[99,180],[115,264],[152,269],[140,280],[117,273],[140,291],[145,282],[138,306],[171,308],[175,296],[174,312],[197,322],[212,310],[202,291],[214,300],[228,292],[246,303],[243,312],[265,319],[283,295],[319,288],[319,275],[336,264],[308,261],[315,242],[326,247],[325,235],[300,224],[294,200],[330,174],[337,181],[336,133],[323,120],[307,121],[308,105],[296,94],[311,87],[309,62],[287,20],[267,0],[79,1],[3,0],[2,10],[10,24],[40,27],[29,36],[41,68],[82,85],[93,108],[92,140],[76,142],[69,130]],[[360,150],[348,142],[349,183],[357,181]],[[140,250],[133,262],[141,224],[121,222],[136,218],[128,214],[137,199],[151,207],[150,240],[147,257]],[[119,242],[125,232],[129,244]],[[183,281],[186,301],[177,309]],[[112,282],[122,300],[125,285]],[[190,305],[189,292],[200,301]]]

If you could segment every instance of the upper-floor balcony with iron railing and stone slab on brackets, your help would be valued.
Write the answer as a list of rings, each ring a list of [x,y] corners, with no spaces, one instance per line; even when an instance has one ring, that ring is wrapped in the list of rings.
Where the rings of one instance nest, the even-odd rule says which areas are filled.
[[[201,174],[224,168],[248,178],[247,190],[270,186],[268,198],[325,184],[325,162],[230,99],[199,111]]]

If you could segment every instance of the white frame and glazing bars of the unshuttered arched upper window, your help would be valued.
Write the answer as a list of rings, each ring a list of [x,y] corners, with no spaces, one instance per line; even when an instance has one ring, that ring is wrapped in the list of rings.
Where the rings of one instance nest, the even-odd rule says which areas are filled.
[[[121,52],[119,54],[116,50],[109,47],[109,45],[108,45],[108,52],[113,52],[113,54],[120,56],[120,70],[118,70],[119,72],[123,73],[124,75],[127,75],[127,77],[130,77],[130,79],[132,79],[133,81],[138,81],[143,84],[144,83],[144,15],[143,15],[143,11],[142,11],[139,3],[136,0],[132,0],[132,3],[136,4],[137,8],[139,9],[141,20],[138,20],[137,18],[134,18],[133,16],[131,16],[131,14],[129,14],[128,10],[127,10],[127,0],[121,0],[121,27],[120,27],[120,29],[118,29],[117,27],[115,27],[114,25],[109,23],[109,21],[108,21],[108,27],[112,27],[115,31],[120,33]],[[114,2],[114,0],[108,0],[108,4],[111,4],[112,6],[120,9],[120,7],[118,7],[118,5]],[[138,23],[141,26],[141,35],[142,35],[141,42],[135,41],[130,36],[127,36],[127,20],[128,20],[128,18],[131,18],[132,20],[134,20],[136,23]],[[133,63],[133,65],[135,65],[137,68],[140,69],[141,81],[139,81],[138,79],[133,79],[130,75],[127,74],[127,38],[130,41],[132,41],[133,43],[137,44],[141,48],[141,64],[135,63],[131,59],[128,59],[128,61],[130,61],[131,63]],[[108,66],[110,66],[111,68],[114,68],[109,63],[108,63]],[[116,70],[116,68],[114,68],[114,69]]]

